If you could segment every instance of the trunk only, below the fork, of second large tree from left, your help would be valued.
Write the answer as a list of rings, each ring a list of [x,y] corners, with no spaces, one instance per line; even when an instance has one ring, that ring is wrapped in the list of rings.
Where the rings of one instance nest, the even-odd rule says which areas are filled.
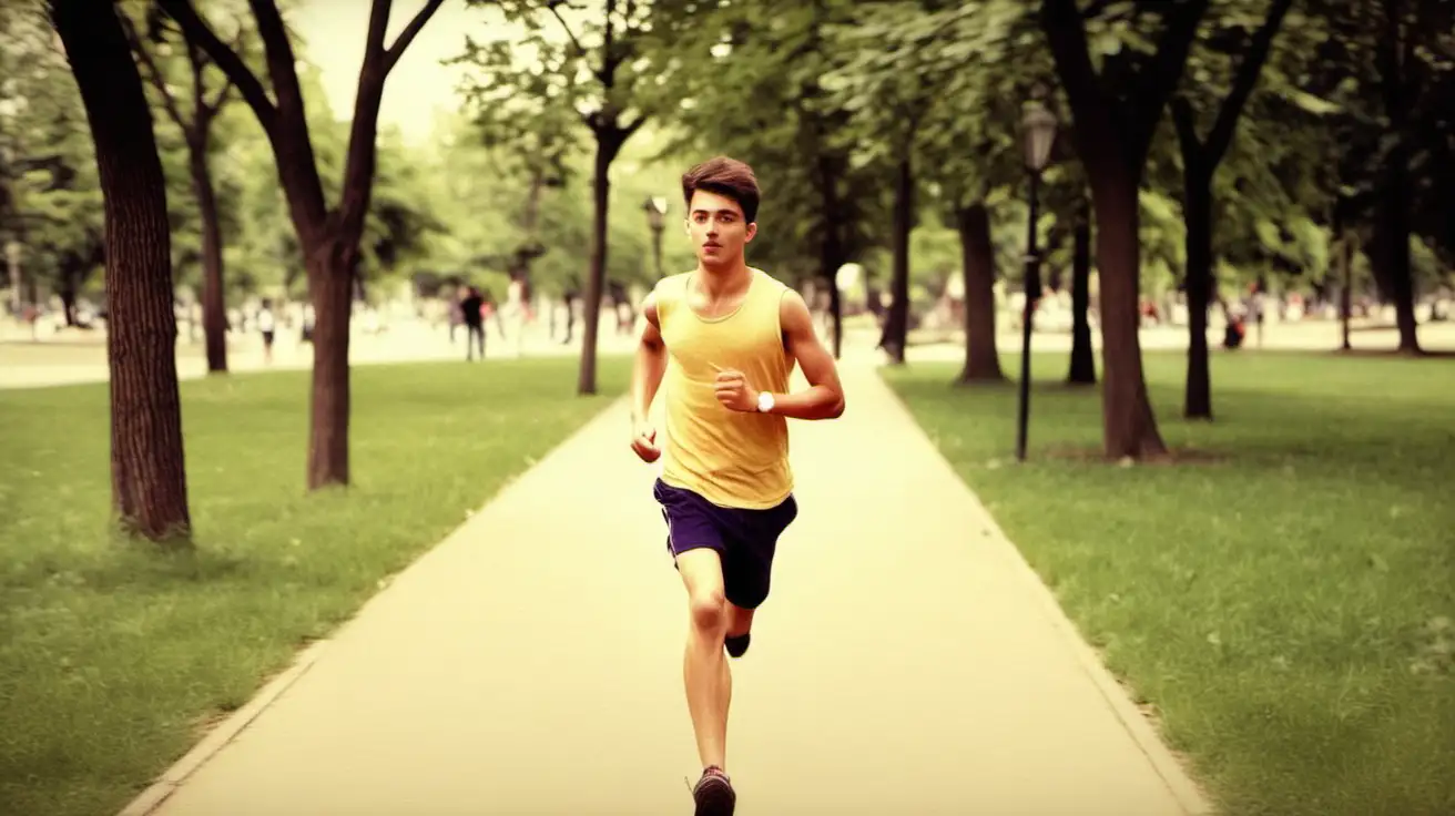
[[[308,490],[349,483],[349,317],[356,252],[349,246],[333,239],[306,252],[314,316]]]

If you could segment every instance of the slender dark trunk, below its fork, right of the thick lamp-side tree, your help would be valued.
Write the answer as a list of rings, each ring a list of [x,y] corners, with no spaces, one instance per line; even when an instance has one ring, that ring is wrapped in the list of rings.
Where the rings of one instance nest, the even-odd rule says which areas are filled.
[[[1183,151],[1183,223],[1187,227],[1187,387],[1183,416],[1212,419],[1208,308],[1212,298],[1212,173]]]

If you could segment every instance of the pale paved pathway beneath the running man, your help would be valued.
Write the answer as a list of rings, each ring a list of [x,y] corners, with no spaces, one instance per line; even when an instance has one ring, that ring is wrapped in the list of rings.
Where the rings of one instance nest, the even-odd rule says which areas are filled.
[[[848,413],[793,428],[802,513],[733,665],[738,812],[1202,812],[888,387],[863,362],[844,377]],[[626,410],[311,650],[157,812],[690,813],[684,595]]]

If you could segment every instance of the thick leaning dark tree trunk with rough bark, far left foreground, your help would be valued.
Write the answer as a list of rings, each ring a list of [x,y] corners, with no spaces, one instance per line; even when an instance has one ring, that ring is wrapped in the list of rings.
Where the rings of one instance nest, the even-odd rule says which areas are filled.
[[[192,519],[166,177],[141,74],[115,13],[97,13],[86,0],[51,3],[86,106],[105,199],[112,505],[132,532],[180,543]]]

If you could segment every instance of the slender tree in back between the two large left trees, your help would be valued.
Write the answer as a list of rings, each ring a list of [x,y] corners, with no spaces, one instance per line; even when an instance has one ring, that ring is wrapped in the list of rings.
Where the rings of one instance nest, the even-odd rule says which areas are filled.
[[[156,90],[162,109],[176,124],[186,143],[188,175],[192,179],[192,195],[202,227],[202,336],[207,369],[211,374],[221,374],[227,371],[227,303],[223,297],[223,225],[210,153],[212,122],[227,103],[233,83],[223,74],[221,81],[215,81],[215,87],[210,92],[207,68],[211,61],[207,52],[196,42],[183,41],[180,48],[186,54],[189,81],[186,99],[180,99],[180,93],[169,81],[167,68],[172,67],[172,61],[160,54],[176,47],[172,32],[167,31],[164,17],[156,6],[148,6],[146,22],[147,29],[143,35],[137,32],[131,17],[122,16],[132,54],[137,55],[143,73]],[[233,48],[242,49],[242,29]]]

